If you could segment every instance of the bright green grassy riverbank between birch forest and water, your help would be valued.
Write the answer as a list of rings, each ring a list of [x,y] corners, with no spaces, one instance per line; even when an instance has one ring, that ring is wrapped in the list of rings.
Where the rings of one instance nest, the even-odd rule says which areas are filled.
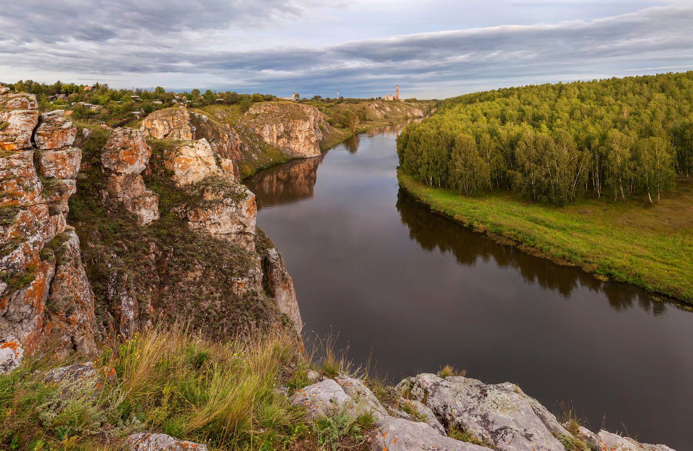
[[[602,197],[559,207],[506,191],[464,197],[401,170],[398,179],[432,210],[495,240],[693,304],[693,184],[680,184],[658,204]]]

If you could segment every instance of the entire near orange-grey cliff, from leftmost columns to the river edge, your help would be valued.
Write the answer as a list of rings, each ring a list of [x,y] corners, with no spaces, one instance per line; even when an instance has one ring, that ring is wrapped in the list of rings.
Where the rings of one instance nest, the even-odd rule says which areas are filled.
[[[60,110],[39,114],[31,94],[0,93],[0,338],[14,362],[3,369],[43,348],[93,354],[157,317],[300,332],[279,252],[265,236],[256,246],[228,125],[164,109],[141,130],[78,130]]]

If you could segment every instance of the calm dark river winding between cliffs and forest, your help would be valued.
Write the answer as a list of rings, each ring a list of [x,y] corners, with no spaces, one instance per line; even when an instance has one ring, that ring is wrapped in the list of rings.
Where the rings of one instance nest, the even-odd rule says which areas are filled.
[[[398,189],[401,125],[247,182],[290,272],[308,339],[403,375],[452,364],[510,381],[588,427],[693,450],[693,313],[523,254]]]

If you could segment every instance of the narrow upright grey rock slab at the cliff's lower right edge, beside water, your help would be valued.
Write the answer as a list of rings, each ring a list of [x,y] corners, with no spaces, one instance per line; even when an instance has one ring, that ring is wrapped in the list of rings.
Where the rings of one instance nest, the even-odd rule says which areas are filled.
[[[279,312],[289,317],[300,335],[301,329],[303,329],[303,320],[296,300],[294,283],[284,266],[279,251],[274,247],[265,251],[263,269],[267,278],[267,288],[269,288],[274,300],[277,301]]]

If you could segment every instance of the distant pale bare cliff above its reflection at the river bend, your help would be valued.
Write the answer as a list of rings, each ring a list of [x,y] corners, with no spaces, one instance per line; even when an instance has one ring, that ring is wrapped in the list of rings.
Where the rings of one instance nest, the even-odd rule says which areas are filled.
[[[287,102],[256,103],[245,114],[245,121],[265,143],[290,158],[317,157],[321,127],[329,127],[317,108]]]

